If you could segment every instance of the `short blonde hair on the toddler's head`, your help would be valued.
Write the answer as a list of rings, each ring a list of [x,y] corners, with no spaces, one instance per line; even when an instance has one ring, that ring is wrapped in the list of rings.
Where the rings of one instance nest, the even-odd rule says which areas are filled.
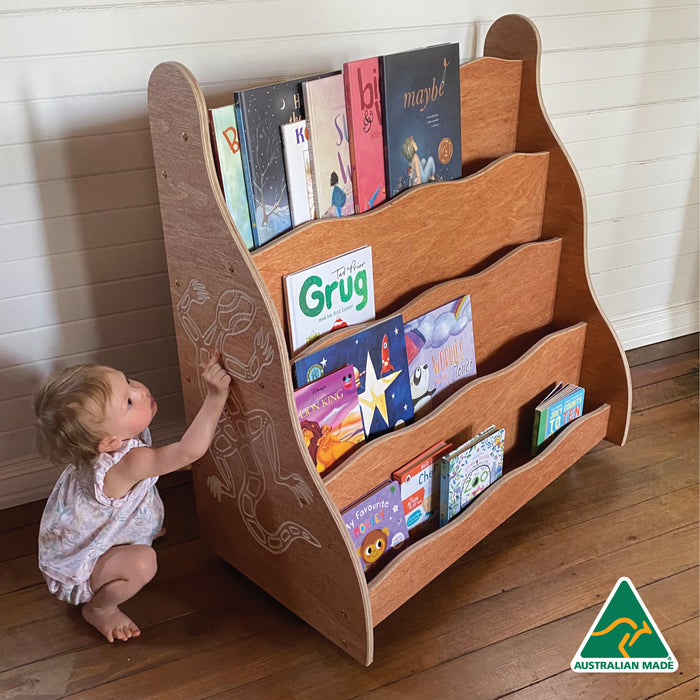
[[[34,394],[37,443],[54,464],[92,466],[99,454],[104,410],[112,396],[107,367],[55,370]]]

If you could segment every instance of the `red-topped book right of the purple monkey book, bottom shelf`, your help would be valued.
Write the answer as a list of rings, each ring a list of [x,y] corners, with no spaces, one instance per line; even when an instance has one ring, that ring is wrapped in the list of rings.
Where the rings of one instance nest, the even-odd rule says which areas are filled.
[[[440,457],[451,449],[450,444],[437,442],[391,475],[401,488],[406,527],[412,540],[427,535],[438,526]]]

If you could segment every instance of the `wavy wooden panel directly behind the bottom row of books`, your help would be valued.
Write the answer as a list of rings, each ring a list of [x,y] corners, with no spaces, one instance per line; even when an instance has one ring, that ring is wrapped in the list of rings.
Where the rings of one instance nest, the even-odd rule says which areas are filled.
[[[585,338],[585,323],[550,334],[512,365],[474,380],[414,425],[373,440],[327,480],[336,505],[345,507],[438,440],[460,445],[492,424],[506,431],[506,469],[517,463],[529,454],[537,402],[558,381],[578,382]]]

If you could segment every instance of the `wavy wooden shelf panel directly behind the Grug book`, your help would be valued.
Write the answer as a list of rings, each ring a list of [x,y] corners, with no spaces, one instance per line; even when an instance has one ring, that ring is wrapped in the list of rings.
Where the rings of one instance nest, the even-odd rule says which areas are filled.
[[[548,160],[506,156],[472,177],[421,185],[364,214],[312,221],[256,250],[279,318],[283,275],[362,245],[372,246],[379,317],[505,247],[538,239]]]

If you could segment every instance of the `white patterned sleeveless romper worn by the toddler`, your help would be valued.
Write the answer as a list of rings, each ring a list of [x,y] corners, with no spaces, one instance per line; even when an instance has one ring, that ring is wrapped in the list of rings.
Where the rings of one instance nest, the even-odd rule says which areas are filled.
[[[109,498],[102,490],[107,471],[129,450],[150,446],[148,428],[140,438],[101,453],[92,468],[71,465],[58,478],[39,526],[39,569],[59,600],[73,605],[90,600],[97,560],[115,545],[150,545],[162,527],[157,476],[139,481],[121,498]]]

